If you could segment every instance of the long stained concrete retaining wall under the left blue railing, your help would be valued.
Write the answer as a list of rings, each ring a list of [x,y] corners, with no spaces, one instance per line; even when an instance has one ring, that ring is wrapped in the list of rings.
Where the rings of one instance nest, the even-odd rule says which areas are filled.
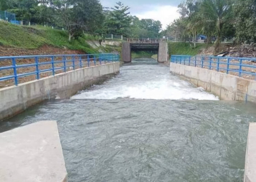
[[[119,72],[120,63],[82,68],[0,89],[0,120],[47,99],[66,99]]]

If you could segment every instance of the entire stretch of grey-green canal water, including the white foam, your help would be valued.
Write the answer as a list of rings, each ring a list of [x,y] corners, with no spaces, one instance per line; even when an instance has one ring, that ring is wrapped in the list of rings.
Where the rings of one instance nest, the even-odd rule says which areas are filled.
[[[224,102],[152,60],[0,123],[57,120],[69,182],[242,182],[256,106]]]

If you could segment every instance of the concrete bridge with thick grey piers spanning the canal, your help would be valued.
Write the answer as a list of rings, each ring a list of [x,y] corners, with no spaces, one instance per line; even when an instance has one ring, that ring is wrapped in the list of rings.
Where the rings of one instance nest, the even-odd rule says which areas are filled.
[[[131,62],[132,51],[158,51],[157,61],[163,63],[169,60],[168,44],[166,39],[127,39],[122,46],[122,60]]]

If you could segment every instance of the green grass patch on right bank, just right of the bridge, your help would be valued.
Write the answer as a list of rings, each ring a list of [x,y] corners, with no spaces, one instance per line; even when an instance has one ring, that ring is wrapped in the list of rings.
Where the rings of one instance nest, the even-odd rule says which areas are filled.
[[[168,48],[169,48],[169,55],[195,56],[199,54],[203,48],[207,48],[207,44],[197,43],[196,48],[191,48],[189,43],[168,42]]]

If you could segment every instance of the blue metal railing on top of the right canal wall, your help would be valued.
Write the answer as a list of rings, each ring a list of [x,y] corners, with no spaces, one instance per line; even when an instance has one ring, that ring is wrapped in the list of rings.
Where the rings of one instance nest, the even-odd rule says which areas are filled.
[[[256,79],[256,58],[172,55],[170,61],[225,72],[247,79]]]

